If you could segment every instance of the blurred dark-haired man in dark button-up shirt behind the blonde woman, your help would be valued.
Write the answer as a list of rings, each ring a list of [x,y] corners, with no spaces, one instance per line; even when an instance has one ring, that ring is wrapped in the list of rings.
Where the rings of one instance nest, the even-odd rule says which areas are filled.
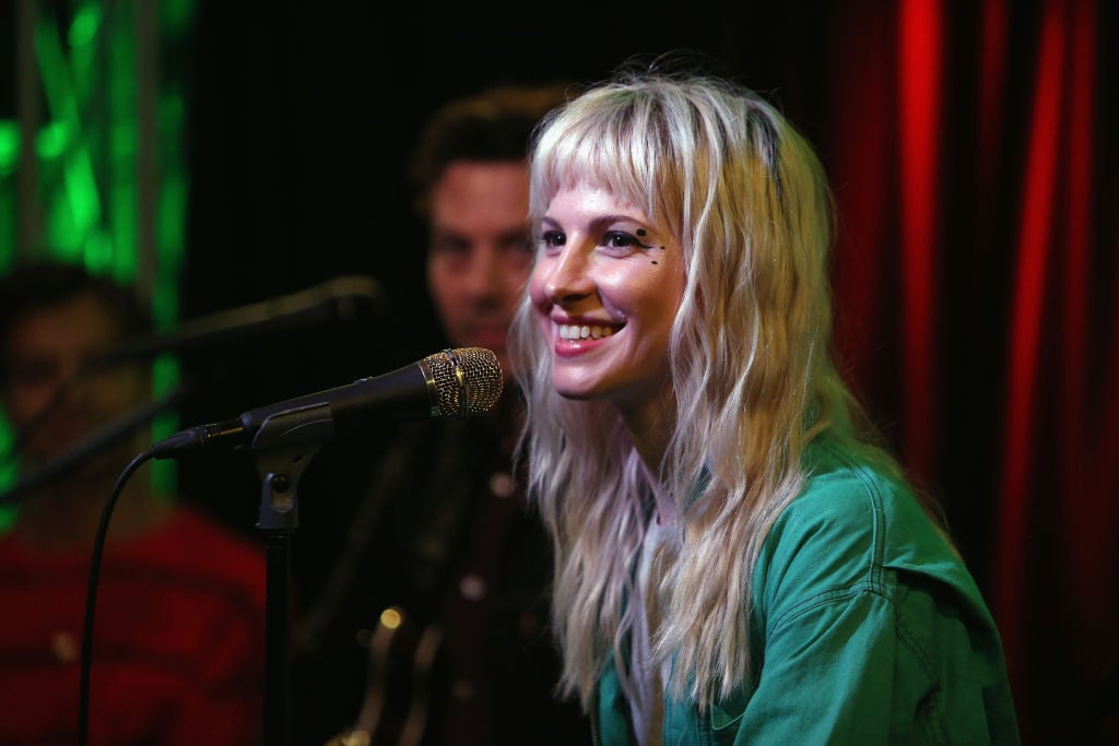
[[[479,417],[404,426],[380,457],[299,629],[307,743],[590,742],[577,706],[553,695],[552,558],[510,463],[521,402],[505,341],[533,261],[528,142],[565,94],[485,91],[420,134],[410,178],[429,227],[427,290],[449,346],[497,355],[505,394]]]

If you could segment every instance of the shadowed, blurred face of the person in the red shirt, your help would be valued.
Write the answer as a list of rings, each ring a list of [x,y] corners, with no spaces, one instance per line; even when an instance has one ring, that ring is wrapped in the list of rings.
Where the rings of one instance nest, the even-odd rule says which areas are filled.
[[[120,341],[119,322],[93,294],[30,311],[11,327],[2,340],[9,360],[8,419],[19,431],[51,407],[21,451],[27,464],[48,460],[148,399],[150,381],[135,366],[74,380],[78,369]],[[53,405],[60,390],[64,396]]]

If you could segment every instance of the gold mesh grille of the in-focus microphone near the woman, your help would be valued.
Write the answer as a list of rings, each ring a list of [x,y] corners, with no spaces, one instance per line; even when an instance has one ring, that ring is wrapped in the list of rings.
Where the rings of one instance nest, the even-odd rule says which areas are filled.
[[[435,379],[439,414],[467,417],[488,412],[501,396],[505,378],[492,350],[463,347],[424,358]]]

